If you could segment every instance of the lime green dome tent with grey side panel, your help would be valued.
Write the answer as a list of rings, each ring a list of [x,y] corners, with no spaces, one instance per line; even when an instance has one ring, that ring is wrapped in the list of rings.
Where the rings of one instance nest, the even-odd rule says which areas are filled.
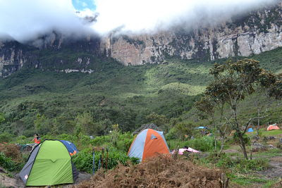
[[[44,140],[37,145],[20,171],[26,186],[71,184],[77,176],[71,155],[60,140]]]

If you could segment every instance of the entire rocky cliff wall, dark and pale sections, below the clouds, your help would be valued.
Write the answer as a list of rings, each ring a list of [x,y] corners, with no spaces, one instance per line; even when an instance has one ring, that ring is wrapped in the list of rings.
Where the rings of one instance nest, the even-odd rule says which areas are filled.
[[[114,58],[123,65],[142,65],[161,63],[168,56],[204,61],[250,56],[282,46],[281,18],[279,3],[220,25],[189,31],[75,40],[51,33],[27,44],[0,42],[0,77],[23,67],[92,73],[92,65],[101,57]]]

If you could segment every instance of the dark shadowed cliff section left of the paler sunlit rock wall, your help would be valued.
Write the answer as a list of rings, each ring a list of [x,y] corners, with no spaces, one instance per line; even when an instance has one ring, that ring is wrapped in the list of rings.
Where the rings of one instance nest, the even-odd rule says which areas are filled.
[[[101,57],[100,39],[69,40],[51,33],[32,42],[0,42],[0,77],[20,68],[39,68],[61,72],[92,73],[92,65]]]

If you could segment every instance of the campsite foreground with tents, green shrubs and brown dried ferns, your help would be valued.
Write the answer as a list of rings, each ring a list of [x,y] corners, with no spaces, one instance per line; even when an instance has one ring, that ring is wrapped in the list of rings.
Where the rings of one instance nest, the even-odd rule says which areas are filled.
[[[143,129],[146,127],[152,127],[152,124],[142,126]],[[28,180],[25,182],[27,186],[65,184],[63,187],[70,187],[72,184],[74,187],[126,187],[126,184],[135,184],[137,187],[223,187],[226,183],[229,187],[248,185],[260,187],[263,184],[264,187],[281,186],[279,177],[282,175],[282,130],[262,128],[262,137],[259,138],[257,146],[247,145],[248,153],[251,149],[254,151],[252,160],[249,161],[243,159],[240,147],[235,144],[233,136],[228,136],[228,144],[224,146],[223,153],[219,157],[214,155],[213,137],[203,135],[202,132],[197,132],[197,129],[194,135],[194,139],[165,139],[162,132],[152,129],[141,130],[140,134],[135,136],[118,130],[114,130],[108,136],[94,138],[82,134],[78,137],[68,134],[56,137],[44,135],[42,146],[35,147],[32,153],[28,147],[22,148],[30,139],[20,137],[0,145],[1,151],[4,151],[4,155],[0,156],[0,166],[5,172],[1,171],[0,182],[3,186],[5,180],[8,180],[5,182],[6,187],[9,185],[24,187],[22,180]],[[255,132],[247,133],[250,143],[255,135]],[[59,145],[56,146],[52,144],[53,142]],[[18,147],[13,143],[21,144]],[[144,145],[140,146],[142,143]],[[68,148],[63,144],[68,145]],[[59,148],[52,148],[54,146]],[[181,150],[185,146],[190,146],[189,150]],[[143,148],[137,149],[138,147]],[[220,146],[216,147],[220,149]],[[39,152],[39,149],[42,151]],[[178,155],[176,152],[169,153],[173,149],[181,152]],[[76,150],[75,155],[69,154]],[[66,153],[58,153],[63,151]],[[62,161],[64,155],[68,163]],[[143,161],[142,156],[148,156],[148,159]],[[154,157],[150,158],[150,156]],[[58,157],[60,159],[56,159]],[[32,158],[36,160],[31,160]],[[47,158],[53,162],[50,161],[49,164]],[[32,167],[33,173],[26,173],[32,166],[30,161],[35,163]],[[56,164],[55,169],[50,168],[52,164]],[[66,175],[63,175],[63,172]],[[93,172],[94,176],[92,176]],[[81,174],[80,177],[78,173]],[[27,179],[27,174],[32,179]],[[58,175],[63,176],[58,177]],[[38,179],[40,177],[43,177],[44,181]]]

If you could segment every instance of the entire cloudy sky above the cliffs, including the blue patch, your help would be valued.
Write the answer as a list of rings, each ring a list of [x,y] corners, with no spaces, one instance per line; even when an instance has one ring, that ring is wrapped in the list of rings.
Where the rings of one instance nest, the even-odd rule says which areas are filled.
[[[216,25],[277,0],[0,0],[0,39],[26,42],[52,31],[71,37],[154,33]],[[78,13],[78,11],[80,13]],[[87,22],[85,16],[97,16]],[[88,19],[91,20],[91,19]]]

